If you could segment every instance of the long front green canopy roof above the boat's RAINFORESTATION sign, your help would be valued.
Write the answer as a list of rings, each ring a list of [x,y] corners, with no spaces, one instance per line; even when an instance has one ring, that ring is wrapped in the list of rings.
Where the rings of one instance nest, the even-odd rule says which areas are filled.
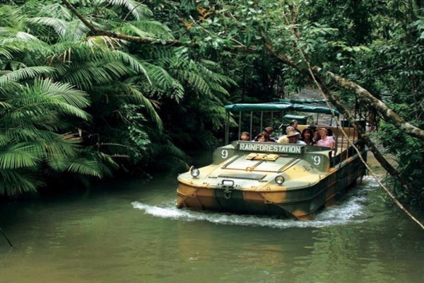
[[[336,116],[340,115],[337,109],[332,108]],[[227,112],[261,112],[261,111],[300,111],[300,112],[312,112],[312,113],[323,113],[331,114],[331,110],[328,107],[321,105],[307,105],[298,103],[239,103],[225,105]]]

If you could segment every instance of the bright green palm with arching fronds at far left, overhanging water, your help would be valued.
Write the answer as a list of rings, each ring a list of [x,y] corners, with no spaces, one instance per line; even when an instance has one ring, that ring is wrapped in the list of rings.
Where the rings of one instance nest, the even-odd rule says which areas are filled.
[[[90,119],[81,110],[88,105],[86,93],[50,79],[21,84],[20,80],[30,77],[19,70],[2,73],[0,195],[35,191],[52,171],[102,178],[107,168],[99,161],[105,156],[81,148],[77,132],[64,132],[73,119]]]

